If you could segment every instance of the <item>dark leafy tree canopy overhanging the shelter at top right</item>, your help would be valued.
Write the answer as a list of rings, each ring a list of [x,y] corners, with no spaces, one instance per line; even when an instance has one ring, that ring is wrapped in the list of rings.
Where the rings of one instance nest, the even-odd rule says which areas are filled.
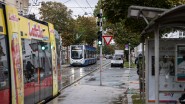
[[[183,3],[185,3],[184,0],[104,0],[102,8],[107,21],[117,23],[124,20],[125,28],[132,33],[140,34],[147,24],[143,20],[127,18],[129,6],[139,5],[168,9]]]

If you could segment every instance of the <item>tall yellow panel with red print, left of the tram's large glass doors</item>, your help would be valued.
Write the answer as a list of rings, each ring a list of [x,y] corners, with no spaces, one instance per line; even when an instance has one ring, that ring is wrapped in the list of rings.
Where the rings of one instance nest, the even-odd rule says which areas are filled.
[[[12,103],[23,104],[23,67],[21,62],[21,46],[19,35],[19,18],[17,9],[6,5],[6,16],[8,25],[10,60],[11,60],[11,86]]]

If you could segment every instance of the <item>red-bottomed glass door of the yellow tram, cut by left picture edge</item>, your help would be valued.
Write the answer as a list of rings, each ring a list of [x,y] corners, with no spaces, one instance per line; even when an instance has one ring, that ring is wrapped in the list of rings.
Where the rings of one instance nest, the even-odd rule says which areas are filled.
[[[10,68],[6,39],[5,35],[0,34],[0,104],[10,103]]]

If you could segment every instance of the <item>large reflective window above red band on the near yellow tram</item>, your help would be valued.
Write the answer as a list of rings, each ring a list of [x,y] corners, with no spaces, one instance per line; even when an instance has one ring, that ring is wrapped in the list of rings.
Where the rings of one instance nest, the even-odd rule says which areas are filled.
[[[26,51],[26,54],[23,54],[24,82],[37,81],[38,76],[42,80],[45,76],[51,75],[51,49],[48,48],[50,44],[34,39],[22,39],[22,41]],[[44,50],[42,46],[45,46]]]

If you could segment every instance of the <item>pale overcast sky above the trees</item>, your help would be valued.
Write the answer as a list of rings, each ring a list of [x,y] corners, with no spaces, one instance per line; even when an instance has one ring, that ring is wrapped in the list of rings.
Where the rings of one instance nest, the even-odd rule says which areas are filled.
[[[33,4],[33,2],[35,1],[37,1],[38,4],[39,2],[42,2],[42,1],[61,2],[73,11],[72,16],[74,18],[78,15],[82,16],[85,13],[87,14],[86,16],[92,16],[93,10],[95,9],[95,5],[97,5],[98,3],[98,0],[30,0],[30,3]],[[39,11],[38,11],[39,7],[40,6],[30,6],[28,13],[30,14],[34,13],[36,14],[37,17],[39,17]]]

